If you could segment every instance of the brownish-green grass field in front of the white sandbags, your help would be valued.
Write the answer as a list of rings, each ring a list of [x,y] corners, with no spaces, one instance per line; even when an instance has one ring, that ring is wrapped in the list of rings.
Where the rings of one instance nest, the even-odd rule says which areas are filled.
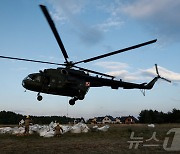
[[[92,126],[89,125],[91,128]],[[166,133],[179,124],[161,124],[149,128],[143,124],[110,125],[107,132],[88,132],[82,134],[66,133],[61,137],[43,138],[37,134],[30,136],[0,135],[0,153],[180,153],[168,152],[163,148],[165,137],[169,137],[167,148],[171,146],[174,134]],[[130,139],[134,137],[143,139]],[[148,140],[156,132],[156,140]],[[148,141],[146,141],[148,140]],[[142,141],[137,149],[129,149],[128,141]],[[143,146],[143,145],[149,146]],[[150,146],[150,145],[158,146]]]

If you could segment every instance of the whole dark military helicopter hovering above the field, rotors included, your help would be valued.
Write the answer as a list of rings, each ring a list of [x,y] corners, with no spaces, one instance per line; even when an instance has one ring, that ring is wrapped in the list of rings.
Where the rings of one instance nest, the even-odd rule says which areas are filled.
[[[107,87],[111,87],[112,89],[118,89],[118,88],[140,89],[140,90],[145,91],[145,90],[152,89],[158,79],[163,79],[168,82],[171,82],[159,75],[157,64],[155,64],[157,76],[154,77],[154,79],[152,79],[152,81],[150,81],[149,83],[141,83],[141,84],[124,82],[121,79],[120,80],[115,79],[115,77],[112,75],[108,75],[105,73],[101,73],[94,70],[76,66],[77,64],[80,64],[80,63],[88,63],[88,62],[95,61],[101,58],[119,54],[128,50],[146,46],[146,45],[155,43],[157,39],[150,40],[150,41],[140,43],[134,46],[130,46],[127,48],[123,48],[117,51],[109,52],[103,55],[88,58],[85,60],[81,60],[78,62],[72,62],[68,60],[69,56],[62,43],[60,35],[57,32],[55,24],[48,12],[48,9],[44,5],[39,5],[39,6],[56,38],[56,41],[63,54],[65,62],[61,64],[61,63],[54,63],[54,62],[41,61],[41,60],[0,56],[0,58],[5,58],[5,59],[13,59],[13,60],[19,60],[19,61],[27,61],[27,62],[43,63],[43,64],[60,66],[57,69],[49,68],[49,69],[40,70],[38,73],[29,74],[22,81],[22,86],[25,89],[37,92],[38,101],[41,101],[43,99],[43,97],[41,96],[41,93],[46,93],[46,94],[52,94],[52,95],[71,97],[71,99],[69,100],[69,104],[74,105],[77,100],[83,100],[85,98],[85,95],[87,94],[90,87],[107,86]],[[89,73],[95,74],[95,75],[92,76]]]

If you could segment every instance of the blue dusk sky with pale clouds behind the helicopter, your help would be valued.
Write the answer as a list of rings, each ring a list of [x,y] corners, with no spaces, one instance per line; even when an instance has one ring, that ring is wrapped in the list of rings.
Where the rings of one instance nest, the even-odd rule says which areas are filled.
[[[1,0],[0,55],[64,62],[39,4],[47,6],[74,62],[157,39],[154,44],[78,66],[143,83],[156,76],[157,63],[160,75],[172,83],[159,80],[145,97],[138,89],[101,87],[91,88],[74,106],[68,97],[48,94],[42,94],[38,102],[36,92],[24,92],[22,80],[57,66],[0,59],[0,111],[90,118],[180,109],[179,0]]]

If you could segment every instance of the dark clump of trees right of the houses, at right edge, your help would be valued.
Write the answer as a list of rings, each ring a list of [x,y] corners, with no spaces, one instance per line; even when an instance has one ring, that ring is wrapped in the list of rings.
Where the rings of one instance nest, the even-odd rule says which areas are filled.
[[[180,123],[180,110],[174,108],[167,113],[156,110],[142,110],[138,119],[139,123]]]

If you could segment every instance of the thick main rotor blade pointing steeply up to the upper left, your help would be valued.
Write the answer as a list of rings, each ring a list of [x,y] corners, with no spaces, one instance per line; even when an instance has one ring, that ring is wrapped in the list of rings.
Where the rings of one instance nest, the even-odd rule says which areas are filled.
[[[40,6],[42,12],[44,13],[44,16],[46,17],[46,20],[48,21],[49,26],[51,27],[51,30],[52,30],[52,32],[53,32],[53,34],[54,34],[54,36],[56,38],[56,41],[57,41],[57,43],[58,43],[58,45],[59,45],[59,47],[60,47],[60,49],[61,49],[61,51],[63,53],[63,56],[65,58],[66,63],[68,63],[68,60],[67,60],[68,55],[67,55],[66,49],[64,48],[64,45],[63,45],[63,43],[61,41],[61,38],[60,38],[60,36],[59,36],[59,34],[57,32],[55,24],[54,24],[54,22],[53,22],[53,20],[52,20],[52,18],[50,16],[46,6],[44,6],[44,5],[39,5],[39,6]]]

